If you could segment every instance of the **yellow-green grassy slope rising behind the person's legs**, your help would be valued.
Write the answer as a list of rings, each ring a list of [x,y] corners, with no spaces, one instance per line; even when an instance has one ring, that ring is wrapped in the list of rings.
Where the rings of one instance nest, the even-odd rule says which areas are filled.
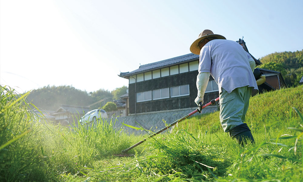
[[[299,118],[293,107],[303,113],[303,85],[251,97],[245,121],[252,132],[264,131],[268,127],[277,129],[297,127]],[[188,121],[190,130],[223,132],[219,120],[219,111],[196,115],[189,118]],[[182,123],[182,125],[184,124]]]

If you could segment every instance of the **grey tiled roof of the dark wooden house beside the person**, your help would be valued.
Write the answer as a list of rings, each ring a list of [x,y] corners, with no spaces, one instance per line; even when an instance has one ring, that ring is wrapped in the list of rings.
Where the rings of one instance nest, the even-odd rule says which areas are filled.
[[[159,69],[159,68],[163,68],[166,66],[171,66],[171,65],[175,65],[175,64],[179,64],[179,63],[183,63],[183,62],[189,62],[189,61],[192,61],[195,59],[199,59],[199,55],[190,53],[190,54],[178,56],[175,58],[165,59],[163,61],[158,61],[158,62],[146,64],[146,65],[141,65],[141,66],[139,66],[138,69],[136,69],[132,72],[121,72],[119,76],[125,78],[128,76],[134,75],[134,74],[138,74],[138,73],[142,73],[142,72],[146,72],[146,71],[150,71],[150,70],[154,70],[154,69]]]

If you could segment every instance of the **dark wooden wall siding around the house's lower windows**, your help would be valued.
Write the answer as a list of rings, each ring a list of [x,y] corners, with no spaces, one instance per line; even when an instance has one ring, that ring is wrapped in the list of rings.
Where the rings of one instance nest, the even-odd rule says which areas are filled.
[[[134,114],[196,107],[195,98],[197,97],[197,75],[198,71],[191,71],[129,84],[129,113]],[[210,79],[212,79],[212,77],[210,77]],[[135,102],[135,93],[187,84],[189,85],[189,96],[151,100],[139,103]],[[204,96],[204,103],[208,103],[211,99],[217,98],[218,94],[218,92],[206,93]]]

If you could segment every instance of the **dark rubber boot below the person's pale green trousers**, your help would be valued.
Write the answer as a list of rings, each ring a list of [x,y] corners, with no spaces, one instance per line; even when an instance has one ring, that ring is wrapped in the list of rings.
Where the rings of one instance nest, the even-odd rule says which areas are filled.
[[[242,146],[247,144],[248,142],[255,144],[254,137],[251,134],[246,123],[235,126],[229,131],[229,135],[232,138],[236,138],[239,144]]]

